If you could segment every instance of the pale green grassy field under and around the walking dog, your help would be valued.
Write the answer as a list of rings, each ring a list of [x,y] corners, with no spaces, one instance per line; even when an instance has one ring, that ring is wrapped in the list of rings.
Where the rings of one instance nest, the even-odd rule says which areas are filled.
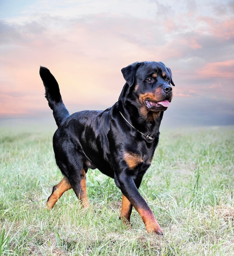
[[[90,209],[73,191],[44,208],[62,175],[53,131],[0,128],[0,255],[234,255],[234,128],[161,130],[140,187],[165,236],[139,214],[121,226],[121,193],[98,170],[87,174]]]

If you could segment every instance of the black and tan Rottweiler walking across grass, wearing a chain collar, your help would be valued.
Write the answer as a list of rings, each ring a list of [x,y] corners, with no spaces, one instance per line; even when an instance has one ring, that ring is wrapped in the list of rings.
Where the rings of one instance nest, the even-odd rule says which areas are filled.
[[[130,224],[133,206],[149,233],[163,234],[138,189],[159,141],[163,112],[172,100],[172,73],[161,62],[136,62],[121,71],[126,83],[111,108],[69,115],[54,76],[46,67],[40,68],[58,126],[53,136],[55,159],[64,175],[53,187],[47,206],[51,209],[72,188],[83,207],[88,207],[86,172],[98,168],[121,189],[123,222]]]

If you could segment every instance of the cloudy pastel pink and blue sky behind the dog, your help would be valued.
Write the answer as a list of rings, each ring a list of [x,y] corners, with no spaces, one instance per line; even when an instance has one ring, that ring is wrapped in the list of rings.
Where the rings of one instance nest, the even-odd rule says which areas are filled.
[[[112,106],[135,61],[172,70],[165,125],[234,125],[233,0],[0,0],[0,122],[53,119],[40,65],[73,113]]]

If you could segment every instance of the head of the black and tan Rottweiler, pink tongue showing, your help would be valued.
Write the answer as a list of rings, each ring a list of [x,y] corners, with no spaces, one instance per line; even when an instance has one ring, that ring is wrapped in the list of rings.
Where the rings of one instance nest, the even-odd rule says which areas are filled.
[[[126,85],[121,93],[146,115],[165,111],[172,100],[172,73],[162,62],[135,62],[122,68]],[[125,94],[125,95],[124,95]]]

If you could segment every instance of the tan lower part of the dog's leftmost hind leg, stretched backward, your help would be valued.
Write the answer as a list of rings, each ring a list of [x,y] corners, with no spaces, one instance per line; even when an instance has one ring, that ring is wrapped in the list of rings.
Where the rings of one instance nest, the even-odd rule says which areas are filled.
[[[46,203],[47,208],[52,209],[62,194],[69,189],[71,189],[71,184],[68,182],[67,178],[64,177],[59,184],[53,187],[53,192],[49,196]]]

